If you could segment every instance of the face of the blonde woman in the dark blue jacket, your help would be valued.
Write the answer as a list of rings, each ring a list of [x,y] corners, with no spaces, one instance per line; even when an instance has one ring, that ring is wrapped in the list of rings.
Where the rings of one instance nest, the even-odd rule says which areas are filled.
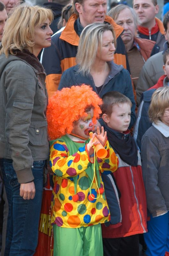
[[[107,62],[114,59],[115,40],[113,38],[112,32],[110,30],[104,31],[102,35],[102,46],[100,52],[100,46],[97,50],[96,60]]]

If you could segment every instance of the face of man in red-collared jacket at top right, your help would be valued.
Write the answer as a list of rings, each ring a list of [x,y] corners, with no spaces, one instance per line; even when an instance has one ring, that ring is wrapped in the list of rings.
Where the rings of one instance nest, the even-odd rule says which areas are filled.
[[[154,6],[152,0],[134,0],[133,9],[137,12],[141,25],[146,27],[154,21],[159,6]]]

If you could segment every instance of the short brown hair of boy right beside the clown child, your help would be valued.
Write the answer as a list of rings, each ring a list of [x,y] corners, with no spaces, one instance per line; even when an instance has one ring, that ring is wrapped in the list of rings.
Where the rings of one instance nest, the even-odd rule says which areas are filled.
[[[107,92],[102,96],[102,101],[103,104],[101,106],[102,110],[102,115],[106,114],[107,116],[111,116],[112,113],[112,107],[117,104],[119,105],[120,103],[129,103],[130,106],[132,107],[132,102],[131,100],[123,95],[121,92]]]

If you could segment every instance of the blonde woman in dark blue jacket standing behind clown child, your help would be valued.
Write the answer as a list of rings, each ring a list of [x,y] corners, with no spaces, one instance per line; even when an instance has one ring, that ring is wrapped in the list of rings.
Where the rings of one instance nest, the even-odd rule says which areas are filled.
[[[132,102],[131,128],[136,120],[131,78],[122,65],[113,62],[115,46],[116,35],[111,25],[96,22],[84,28],[76,55],[77,65],[63,72],[58,89],[88,84],[100,97],[110,91],[123,93]]]

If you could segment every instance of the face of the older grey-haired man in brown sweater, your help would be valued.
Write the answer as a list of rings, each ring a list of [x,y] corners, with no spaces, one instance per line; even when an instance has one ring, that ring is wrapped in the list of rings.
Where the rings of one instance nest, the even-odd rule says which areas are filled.
[[[134,24],[134,18],[128,8],[123,9],[115,22],[124,28],[124,32],[121,35],[124,44],[134,40],[136,26]]]

